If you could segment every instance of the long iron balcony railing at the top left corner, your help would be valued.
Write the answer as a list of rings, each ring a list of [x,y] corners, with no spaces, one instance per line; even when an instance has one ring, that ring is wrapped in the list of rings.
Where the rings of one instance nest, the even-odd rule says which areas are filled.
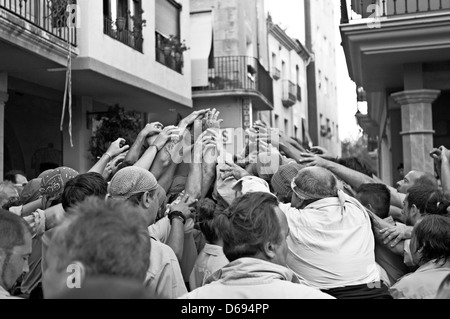
[[[0,8],[66,42],[70,41],[73,46],[77,45],[76,28],[67,26],[66,6],[53,5],[49,0],[0,0]]]

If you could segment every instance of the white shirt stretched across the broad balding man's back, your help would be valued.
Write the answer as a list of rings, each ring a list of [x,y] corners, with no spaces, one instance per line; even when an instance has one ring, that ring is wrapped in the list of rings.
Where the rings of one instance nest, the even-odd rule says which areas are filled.
[[[319,200],[304,210],[280,204],[288,219],[287,265],[300,280],[319,289],[378,282],[375,239],[369,215],[345,195]]]

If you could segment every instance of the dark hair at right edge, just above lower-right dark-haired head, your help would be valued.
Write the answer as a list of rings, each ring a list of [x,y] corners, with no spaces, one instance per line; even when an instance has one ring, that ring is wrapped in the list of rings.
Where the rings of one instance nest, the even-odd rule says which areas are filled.
[[[450,203],[442,191],[419,184],[408,190],[408,208],[413,205],[421,215],[446,215]]]

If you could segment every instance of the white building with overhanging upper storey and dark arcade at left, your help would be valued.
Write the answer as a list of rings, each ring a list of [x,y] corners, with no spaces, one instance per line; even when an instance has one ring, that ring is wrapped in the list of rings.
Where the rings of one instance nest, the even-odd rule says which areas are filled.
[[[77,6],[67,18],[72,2]],[[0,180],[10,169],[35,177],[44,164],[87,171],[92,115],[109,106],[164,124],[190,112],[191,65],[183,62],[190,51],[170,49],[190,42],[189,6],[189,0],[0,1]],[[72,114],[61,133],[69,54]]]

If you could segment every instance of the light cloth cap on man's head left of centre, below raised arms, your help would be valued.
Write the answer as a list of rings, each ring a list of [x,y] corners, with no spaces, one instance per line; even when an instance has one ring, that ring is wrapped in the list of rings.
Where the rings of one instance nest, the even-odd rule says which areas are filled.
[[[156,191],[158,181],[148,170],[130,166],[121,169],[112,178],[108,194],[112,199],[128,200],[132,196]]]

